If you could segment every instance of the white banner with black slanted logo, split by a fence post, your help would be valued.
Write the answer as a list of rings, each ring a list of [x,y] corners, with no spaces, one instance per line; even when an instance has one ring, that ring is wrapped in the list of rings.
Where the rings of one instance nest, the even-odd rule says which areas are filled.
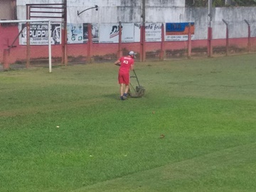
[[[134,24],[122,23],[122,42],[134,42]],[[100,43],[118,43],[119,41],[119,23],[100,24]]]

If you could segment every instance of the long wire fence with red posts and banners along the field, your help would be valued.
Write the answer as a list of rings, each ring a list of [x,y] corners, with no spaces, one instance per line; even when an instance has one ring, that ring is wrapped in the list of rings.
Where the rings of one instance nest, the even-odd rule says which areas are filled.
[[[9,1],[0,1],[0,4],[6,2]],[[256,51],[256,21],[245,18],[231,18],[230,21],[226,18],[215,18],[209,33],[205,21],[145,23],[145,26],[142,23],[121,22],[67,23],[66,10],[63,9],[65,6],[49,5],[50,8],[44,7],[43,4],[39,10],[33,10],[33,15],[29,14],[28,19],[35,16],[41,18],[41,14],[48,13],[49,9],[53,12],[59,11],[61,19],[51,22],[50,36],[46,33],[48,29],[43,23],[33,23],[28,26],[29,30],[26,27],[28,23],[1,24],[0,63],[8,63],[6,68],[12,64],[26,65],[27,68],[48,65],[48,46],[43,43],[48,41],[48,38],[52,44],[50,55],[53,65],[112,62],[126,55],[129,50],[134,50],[137,60],[140,61]],[[31,11],[31,7],[35,9],[37,6],[39,5],[28,4],[27,10]],[[50,19],[54,16],[51,15]],[[196,29],[190,28],[191,26],[196,26]],[[29,44],[25,33],[29,33]]]

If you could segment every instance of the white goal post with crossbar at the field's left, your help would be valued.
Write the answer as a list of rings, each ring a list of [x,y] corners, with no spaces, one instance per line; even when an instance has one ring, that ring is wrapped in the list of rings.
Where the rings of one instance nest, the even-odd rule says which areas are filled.
[[[50,36],[51,36],[51,31],[50,31],[50,20],[48,19],[36,19],[36,20],[4,20],[1,21],[0,23],[43,23],[47,22],[48,23],[48,58],[49,58],[49,72],[51,73],[52,71],[52,55],[51,55],[51,43],[50,43]]]

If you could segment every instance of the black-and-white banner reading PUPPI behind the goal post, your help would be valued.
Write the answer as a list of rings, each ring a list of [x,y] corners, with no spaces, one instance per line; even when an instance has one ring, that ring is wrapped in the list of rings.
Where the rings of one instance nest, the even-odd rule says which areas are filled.
[[[20,45],[26,45],[26,23],[21,23],[18,26],[21,30],[21,36],[19,38]],[[53,23],[50,25],[50,42],[51,44],[61,43],[61,25],[60,23]],[[30,44],[31,45],[48,45],[48,23],[31,23],[30,25]]]

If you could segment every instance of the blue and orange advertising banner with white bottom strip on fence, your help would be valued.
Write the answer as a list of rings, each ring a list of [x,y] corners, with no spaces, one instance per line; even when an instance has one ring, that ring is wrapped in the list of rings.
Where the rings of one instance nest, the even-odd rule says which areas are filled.
[[[165,41],[188,41],[188,28],[191,26],[191,39],[195,34],[195,23],[166,23]]]

